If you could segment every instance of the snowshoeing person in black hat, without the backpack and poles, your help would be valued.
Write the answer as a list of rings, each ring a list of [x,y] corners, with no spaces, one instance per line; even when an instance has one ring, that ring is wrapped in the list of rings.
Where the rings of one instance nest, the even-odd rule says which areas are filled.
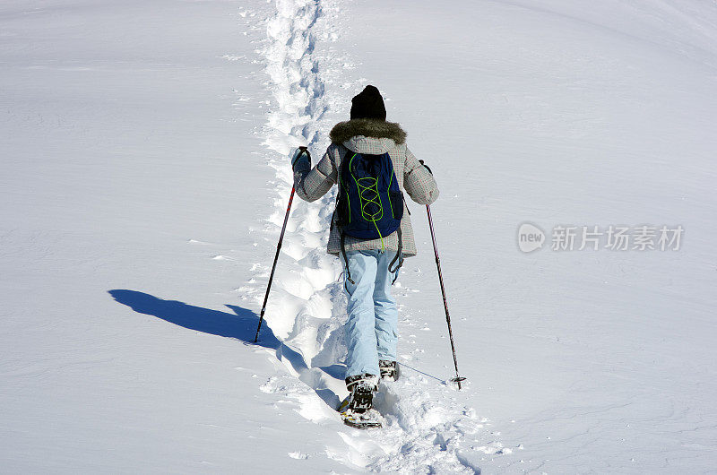
[[[307,202],[321,198],[340,181],[344,161],[356,154],[384,153],[390,157],[401,190],[419,204],[436,201],[438,188],[433,174],[406,146],[401,125],[386,122],[384,99],[375,86],[368,85],[351,99],[350,120],[334,125],[330,138],[331,145],[314,168],[305,148],[290,155],[296,192]],[[405,202],[400,226],[388,236],[379,233],[375,239],[353,238],[342,233],[341,227],[339,213],[334,211],[327,251],[341,255],[344,264],[348,294],[347,401],[350,409],[358,411],[372,407],[378,376],[389,380],[398,377],[398,311],[391,286],[403,257],[416,255],[416,244]]]

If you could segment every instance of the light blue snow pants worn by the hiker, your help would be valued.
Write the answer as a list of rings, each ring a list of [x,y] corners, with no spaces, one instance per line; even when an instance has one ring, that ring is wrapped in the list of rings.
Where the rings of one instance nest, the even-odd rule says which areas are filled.
[[[395,251],[379,250],[346,253],[355,282],[347,279],[344,286],[349,297],[346,377],[363,373],[379,376],[378,360],[396,359],[398,310],[391,296],[395,273],[388,271],[395,256]]]

